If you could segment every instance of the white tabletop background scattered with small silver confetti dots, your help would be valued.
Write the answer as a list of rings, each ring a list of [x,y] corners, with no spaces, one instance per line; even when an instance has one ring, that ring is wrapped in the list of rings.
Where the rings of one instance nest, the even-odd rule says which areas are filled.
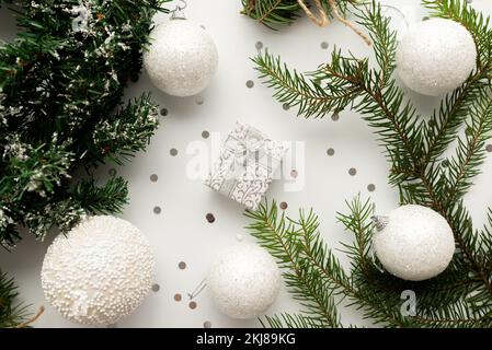
[[[425,15],[417,0],[386,0],[384,3],[399,7],[410,23]],[[490,1],[473,0],[472,5],[492,13]],[[162,117],[161,129],[148,151],[138,154],[124,168],[116,168],[117,174],[129,182],[130,205],[122,217],[149,236],[157,255],[156,283],[160,287],[117,327],[203,327],[206,322],[211,327],[260,326],[255,319],[237,322],[221,315],[206,290],[194,300],[197,307],[188,307],[187,293],[205,278],[216,253],[237,243],[238,235],[254,242],[243,230],[248,223],[243,208],[206,188],[201,180],[190,179],[186,174],[186,164],[193,158],[186,153],[190,142],[204,142],[206,145],[213,142],[211,137],[202,138],[203,131],[224,138],[236,120],[242,120],[275,139],[304,142],[305,162],[291,166],[299,173],[297,182],[305,182],[302,189],[285,191],[285,180],[277,180],[268,198],[287,202],[287,212],[293,217],[297,215],[298,208],[314,208],[321,220],[321,232],[334,248],[341,247],[340,241],[352,238],[335,219],[337,211],[345,210],[346,199],[358,192],[363,198],[370,196],[378,213],[386,213],[397,205],[397,192],[387,184],[388,164],[382,149],[358,115],[343,112],[337,121],[330,116],[318,120],[296,118],[295,110],[284,110],[271,97],[272,90],[256,79],[250,61],[250,57],[258,52],[256,43],[261,42],[270,51],[281,55],[290,67],[309,71],[328,61],[334,45],[361,56],[369,54],[365,44],[340,23],[320,28],[301,18],[293,26],[273,32],[242,16],[240,10],[240,0],[188,1],[187,18],[206,27],[220,56],[213,84],[198,97],[167,96],[150,85],[146,74],[129,88],[128,96],[150,90],[161,107],[169,109],[169,116]],[[404,30],[400,13],[387,9],[387,14],[392,15],[396,25]],[[159,15],[157,22],[162,19],[164,15]],[[11,14],[0,10],[0,38],[11,39],[14,32]],[[323,42],[329,44],[328,49],[322,48]],[[247,88],[249,80],[254,82],[252,89]],[[426,114],[438,103],[438,100],[422,98],[412,93],[409,96]],[[219,142],[218,139],[215,142]],[[335,151],[333,156],[327,154],[330,148]],[[176,149],[178,155],[172,156],[171,149]],[[108,176],[110,168],[101,170],[101,179]],[[356,168],[357,174],[351,176],[350,168]],[[290,170],[286,171],[288,174]],[[151,174],[158,175],[157,182],[150,180]],[[492,174],[490,158],[484,165],[484,174],[467,197],[477,226],[483,222],[487,207],[492,203],[487,180]],[[376,186],[374,192],[368,191],[369,184]],[[160,214],[153,212],[156,206],[161,208]],[[207,222],[207,213],[215,215],[214,223]],[[43,256],[53,236],[38,243],[31,235],[24,235],[13,253],[0,252],[0,266],[15,277],[22,299],[32,304],[33,312],[39,305],[47,306],[35,326],[73,327],[76,325],[64,320],[47,305],[41,289]],[[343,254],[336,254],[348,266]],[[179,268],[181,261],[186,264],[185,269]],[[176,293],[182,294],[181,302],[174,301]],[[296,310],[297,304],[283,288],[281,298],[267,313]],[[344,323],[364,324],[361,314],[353,310],[344,310],[342,317]]]

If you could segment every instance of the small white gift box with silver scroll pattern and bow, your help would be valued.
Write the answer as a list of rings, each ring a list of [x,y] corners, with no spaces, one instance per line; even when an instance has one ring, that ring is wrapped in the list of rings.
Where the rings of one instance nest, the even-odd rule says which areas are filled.
[[[285,142],[237,122],[205,185],[255,210],[287,149]]]

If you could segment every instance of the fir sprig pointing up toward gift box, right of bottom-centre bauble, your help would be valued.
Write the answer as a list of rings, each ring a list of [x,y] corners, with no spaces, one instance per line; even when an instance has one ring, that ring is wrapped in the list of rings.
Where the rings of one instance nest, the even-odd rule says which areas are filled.
[[[247,217],[252,219],[252,223],[247,229],[278,260],[287,287],[306,315],[324,327],[337,327],[340,319],[331,291],[336,289],[336,283],[347,281],[333,256],[317,246],[319,236],[312,234],[318,220],[311,214],[306,218],[301,213],[299,222],[294,222],[284,214],[278,217],[274,202],[271,207],[262,206],[258,211],[248,211]],[[306,254],[307,248],[309,252]],[[310,264],[312,261],[313,265]],[[334,268],[329,279],[320,273],[327,265]]]

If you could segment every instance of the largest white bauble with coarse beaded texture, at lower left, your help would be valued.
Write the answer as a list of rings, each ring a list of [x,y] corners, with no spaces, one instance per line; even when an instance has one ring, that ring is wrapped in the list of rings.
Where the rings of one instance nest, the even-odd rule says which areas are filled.
[[[90,217],[49,246],[41,280],[48,302],[75,323],[117,323],[144,301],[155,278],[147,237],[128,221]]]

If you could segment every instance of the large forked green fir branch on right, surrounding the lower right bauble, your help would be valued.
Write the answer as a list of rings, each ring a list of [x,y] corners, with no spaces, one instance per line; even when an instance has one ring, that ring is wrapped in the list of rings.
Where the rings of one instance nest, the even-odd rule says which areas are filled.
[[[396,35],[375,1],[354,12],[375,43],[376,68],[370,68],[367,59],[343,57],[339,49],[334,50],[330,63],[307,74],[293,73],[279,58],[268,52],[260,54],[254,61],[261,77],[275,90],[275,98],[298,106],[299,115],[322,117],[346,107],[359,112],[375,128],[387,152],[391,162],[389,179],[398,188],[400,201],[436,210],[453,229],[458,249],[448,269],[428,281],[405,282],[388,273],[381,275],[374,266],[370,257],[373,208],[359,198],[350,202],[350,213],[339,214],[345,229],[355,234],[353,244],[344,244],[352,270],[350,288],[342,287],[342,293],[350,305],[363,310],[365,317],[376,324],[390,327],[490,327],[492,235],[489,226],[481,231],[473,229],[462,201],[480,173],[484,144],[491,137],[491,94],[488,86],[492,77],[492,36],[489,18],[472,10],[465,1],[423,2],[433,15],[462,23],[472,34],[479,52],[477,70],[462,86],[443,100],[428,122],[416,114],[392,78]],[[350,95],[348,98],[339,98],[343,91]],[[461,130],[466,132],[458,137]],[[455,140],[455,155],[444,159],[443,154]],[[282,225],[282,222],[276,224]],[[256,233],[256,236],[261,234]],[[289,238],[299,241],[301,236]],[[268,240],[263,244],[267,247]],[[323,249],[327,252],[329,248]],[[299,254],[302,255],[304,250],[300,249]],[[317,261],[308,261],[310,272],[320,272],[319,283],[324,285],[321,280],[332,276],[333,268],[320,269]],[[403,290],[414,291],[417,295],[417,312],[413,316],[400,313]],[[293,325],[309,326],[297,318],[277,317],[272,323],[287,324],[287,320]]]

